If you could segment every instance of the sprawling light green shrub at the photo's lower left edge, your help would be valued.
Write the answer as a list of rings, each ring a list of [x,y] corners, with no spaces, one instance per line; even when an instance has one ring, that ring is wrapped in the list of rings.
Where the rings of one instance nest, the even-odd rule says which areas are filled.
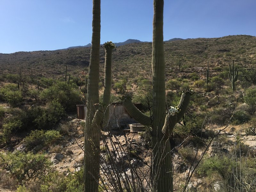
[[[44,155],[32,153],[7,153],[0,154],[0,166],[12,173],[19,183],[28,180],[42,180],[53,172],[51,162]]]

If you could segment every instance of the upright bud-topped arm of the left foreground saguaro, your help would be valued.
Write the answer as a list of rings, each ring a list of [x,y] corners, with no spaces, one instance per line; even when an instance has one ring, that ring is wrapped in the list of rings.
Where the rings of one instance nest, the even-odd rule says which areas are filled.
[[[109,108],[110,95],[111,95],[111,82],[112,82],[112,50],[115,48],[115,44],[111,41],[104,43],[105,48],[105,82],[104,82],[104,93],[103,93],[103,111],[104,111],[104,124],[108,123],[109,119]]]

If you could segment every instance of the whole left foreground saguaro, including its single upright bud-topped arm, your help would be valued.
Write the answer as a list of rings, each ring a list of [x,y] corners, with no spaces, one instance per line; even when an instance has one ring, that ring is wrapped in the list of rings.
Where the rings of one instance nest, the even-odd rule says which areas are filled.
[[[88,81],[86,79],[86,121],[84,129],[84,191],[98,192],[100,173],[100,129],[103,115],[110,102],[111,91],[111,41],[104,44],[105,48],[105,89],[103,106],[99,105],[99,76],[100,76],[100,0],[93,0],[92,7],[92,47],[89,64]],[[87,83],[88,82],[88,83]],[[106,110],[108,111],[108,110]],[[108,117],[108,116],[107,116]],[[105,119],[104,119],[105,120]]]

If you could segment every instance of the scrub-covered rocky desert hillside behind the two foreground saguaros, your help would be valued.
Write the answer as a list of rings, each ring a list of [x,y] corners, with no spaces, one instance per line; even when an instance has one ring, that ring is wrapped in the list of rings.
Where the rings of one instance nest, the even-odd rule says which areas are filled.
[[[164,42],[164,51],[166,106],[177,106],[182,91],[195,91],[170,140],[175,191],[182,190],[189,170],[197,164],[187,183],[190,190],[255,190],[256,37],[170,41]],[[101,96],[104,55],[101,47]],[[84,122],[75,120],[75,116],[76,104],[85,101],[89,59],[90,48],[84,47],[0,53],[0,188],[18,187],[20,192],[82,191]],[[151,43],[126,44],[113,50],[111,102],[122,102],[124,96],[130,95],[151,116],[151,59]],[[239,71],[235,91],[228,78],[232,61]],[[232,75],[232,66],[230,70]],[[125,174],[134,171],[131,167],[148,169],[151,131],[147,127],[140,134],[102,132],[102,185],[110,183],[104,180],[108,178],[104,174],[108,174],[106,169],[112,166],[113,156],[120,158],[123,154],[120,162],[124,163]],[[116,155],[115,147],[109,151],[110,144],[124,151]],[[35,166],[24,169],[27,161]]]

